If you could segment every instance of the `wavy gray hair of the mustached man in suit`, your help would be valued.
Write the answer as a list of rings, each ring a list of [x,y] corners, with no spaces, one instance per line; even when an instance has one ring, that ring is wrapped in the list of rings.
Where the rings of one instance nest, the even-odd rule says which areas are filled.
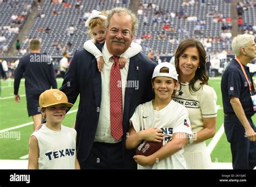
[[[135,32],[137,31],[137,28],[138,28],[138,19],[134,15],[134,13],[132,13],[131,10],[123,8],[123,7],[117,7],[117,8],[113,8],[112,10],[110,10],[110,12],[107,14],[107,18],[105,20],[105,27],[109,28],[110,19],[112,18],[112,16],[115,13],[123,13],[123,12],[127,13],[127,15],[130,15],[132,18],[132,36],[134,36]]]

